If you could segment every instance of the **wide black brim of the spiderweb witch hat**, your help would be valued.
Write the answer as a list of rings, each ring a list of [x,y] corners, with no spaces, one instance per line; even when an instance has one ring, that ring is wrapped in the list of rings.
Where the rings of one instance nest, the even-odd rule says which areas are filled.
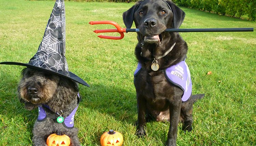
[[[71,79],[77,83],[80,83],[82,85],[85,85],[87,87],[90,87],[83,79],[81,79],[80,77],[78,77],[77,75],[73,74],[72,72],[69,72],[70,76],[65,76],[63,74],[60,74],[60,73],[57,73],[57,72],[54,72],[54,71],[51,71],[51,70],[47,70],[47,69],[44,69],[44,68],[40,68],[40,67],[37,67],[37,66],[33,66],[33,65],[30,65],[28,63],[20,63],[20,62],[0,62],[0,64],[2,65],[17,65],[17,66],[25,66],[27,68],[30,68],[30,69],[35,69],[35,70],[40,70],[40,71],[47,71],[49,73],[53,73],[53,74],[56,74],[56,75],[59,75],[59,76],[62,76],[62,77],[65,77],[65,78],[68,78],[68,79]]]

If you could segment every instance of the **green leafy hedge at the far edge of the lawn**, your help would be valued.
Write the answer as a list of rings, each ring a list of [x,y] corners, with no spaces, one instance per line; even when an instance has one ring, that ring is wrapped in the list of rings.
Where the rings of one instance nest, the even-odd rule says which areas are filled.
[[[247,15],[256,20],[256,0],[172,0],[179,6],[196,8],[231,17],[241,18]]]

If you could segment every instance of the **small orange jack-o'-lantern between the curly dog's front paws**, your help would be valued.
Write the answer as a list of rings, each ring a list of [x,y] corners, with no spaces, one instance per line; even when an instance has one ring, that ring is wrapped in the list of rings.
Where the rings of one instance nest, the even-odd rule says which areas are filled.
[[[47,146],[70,146],[70,138],[61,132],[53,133],[46,140]]]

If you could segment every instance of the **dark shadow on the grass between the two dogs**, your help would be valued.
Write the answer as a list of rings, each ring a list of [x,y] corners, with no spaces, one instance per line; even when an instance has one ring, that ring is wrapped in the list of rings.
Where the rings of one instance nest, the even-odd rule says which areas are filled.
[[[122,87],[93,84],[80,89],[81,106],[115,117],[118,121],[135,123],[137,114],[136,92]]]

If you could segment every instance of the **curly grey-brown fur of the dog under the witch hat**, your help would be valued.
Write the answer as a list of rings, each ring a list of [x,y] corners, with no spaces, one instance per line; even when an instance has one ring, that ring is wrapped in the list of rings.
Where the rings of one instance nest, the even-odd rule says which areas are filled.
[[[28,88],[31,86],[38,88],[36,95],[29,94]],[[77,106],[78,91],[77,84],[70,79],[29,68],[22,71],[22,79],[18,85],[18,97],[20,102],[25,103],[26,109],[32,110],[41,104],[46,104],[51,109],[44,108],[46,114],[60,113],[62,110],[63,117],[67,117]],[[40,100],[36,99],[39,97]],[[58,131],[70,137],[71,146],[80,146],[77,128],[65,128],[49,117],[43,122],[35,121],[32,130],[33,146],[47,146],[47,137]]]

